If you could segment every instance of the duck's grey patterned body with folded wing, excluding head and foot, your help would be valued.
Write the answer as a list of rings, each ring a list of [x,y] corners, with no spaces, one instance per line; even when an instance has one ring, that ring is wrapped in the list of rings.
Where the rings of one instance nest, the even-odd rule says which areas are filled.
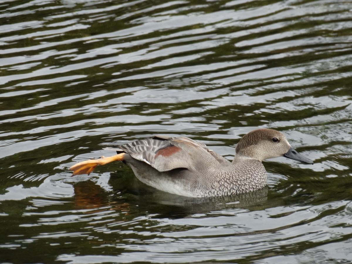
[[[266,185],[262,162],[236,155],[231,163],[186,137],[155,136],[119,146],[145,184],[173,194],[206,197],[247,193]]]

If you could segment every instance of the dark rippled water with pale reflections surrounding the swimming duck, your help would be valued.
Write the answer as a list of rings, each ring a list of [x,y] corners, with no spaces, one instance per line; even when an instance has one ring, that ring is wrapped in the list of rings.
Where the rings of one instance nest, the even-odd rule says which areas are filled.
[[[2,1],[1,263],[351,263],[352,2]],[[75,162],[152,134],[232,159],[282,131],[314,165],[191,199],[120,163]]]

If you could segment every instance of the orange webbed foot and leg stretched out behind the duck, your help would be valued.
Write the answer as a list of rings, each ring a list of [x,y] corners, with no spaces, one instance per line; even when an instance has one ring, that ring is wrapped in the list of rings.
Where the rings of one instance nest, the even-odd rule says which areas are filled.
[[[123,161],[126,153],[120,153],[111,157],[102,156],[101,159],[89,159],[88,161],[81,161],[71,166],[70,170],[73,175],[90,174],[96,166],[105,165],[113,161]]]

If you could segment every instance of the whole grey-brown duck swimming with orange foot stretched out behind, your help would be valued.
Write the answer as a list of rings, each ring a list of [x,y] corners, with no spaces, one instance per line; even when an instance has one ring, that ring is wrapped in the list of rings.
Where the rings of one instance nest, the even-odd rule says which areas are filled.
[[[266,186],[265,159],[286,157],[305,164],[283,133],[259,128],[238,142],[233,161],[187,137],[156,135],[123,144],[117,155],[90,159],[70,167],[73,175],[90,174],[96,166],[122,161],[143,183],[158,190],[188,197],[239,195]]]

